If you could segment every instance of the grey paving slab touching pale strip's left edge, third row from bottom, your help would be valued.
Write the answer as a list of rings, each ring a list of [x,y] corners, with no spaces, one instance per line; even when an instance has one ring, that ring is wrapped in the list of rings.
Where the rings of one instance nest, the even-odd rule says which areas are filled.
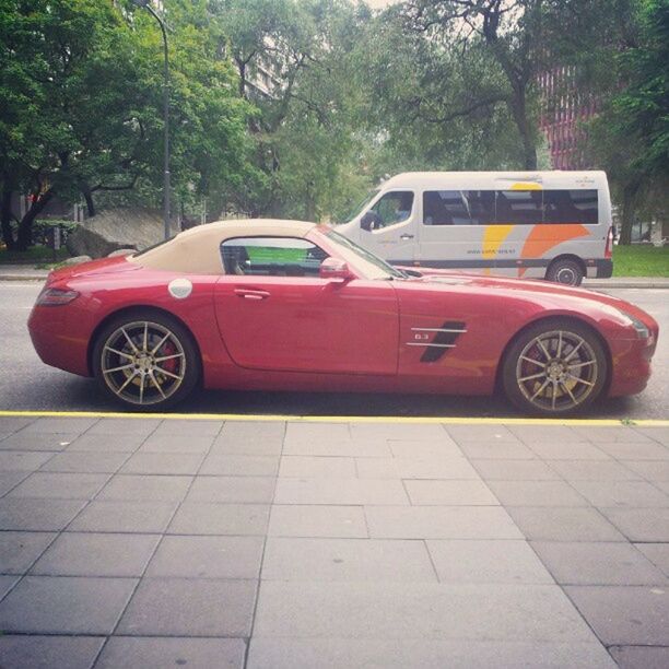
[[[146,577],[258,578],[261,537],[164,537]]]

